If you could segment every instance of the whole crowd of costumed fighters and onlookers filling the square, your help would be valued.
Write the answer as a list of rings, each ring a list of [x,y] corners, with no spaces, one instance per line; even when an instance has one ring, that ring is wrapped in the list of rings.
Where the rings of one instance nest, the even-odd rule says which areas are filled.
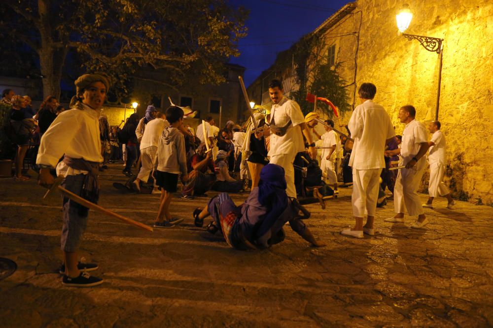
[[[373,102],[376,87],[371,83],[363,83],[358,90],[361,104],[352,113],[347,134],[336,130],[333,120],[320,120],[317,113],[304,116],[296,102],[283,96],[279,80],[269,83],[272,108],[267,115],[255,112],[243,126],[228,121],[222,129],[208,117],[196,131],[187,123],[183,108],[174,105],[164,112],[149,105],[143,118],[132,114],[121,129],[110,126],[101,114],[110,88],[107,76],[82,75],[75,87],[68,111],[60,110],[57,99],[48,97],[35,112],[29,108],[30,99],[12,90],[3,92],[1,101],[12,107],[10,121],[15,132],[11,136],[18,146],[14,179],[29,179],[22,176],[18,163],[22,165],[25,147],[37,135],[38,183],[52,185],[52,170],[56,169],[57,176],[65,177],[64,188],[97,203],[98,172],[121,154],[122,173],[129,177],[130,189],[141,192],[146,185],[160,194],[154,228],[174,227],[184,220],[170,211],[179,181],[179,197],[187,201],[207,197],[209,190],[219,192],[205,208],[193,211],[194,224],[203,227],[204,219],[211,216],[206,229],[212,234],[220,232],[238,249],[281,242],[286,222],[312,245],[323,246],[304,222],[310,213],[303,205],[319,202],[325,208],[325,200],[339,192],[341,180],[352,184],[355,225],[341,231],[349,237],[375,234],[375,211],[384,204],[386,188],[393,194],[396,212],[386,222],[404,222],[407,210],[418,216],[412,227],[423,228],[428,223],[423,207],[432,207],[434,197],[447,197],[448,208],[455,204],[442,182],[446,150],[440,122],[429,124],[432,138],[428,141],[423,123],[415,119],[416,109],[405,105],[399,111],[400,121],[406,124],[404,132],[395,136],[387,112]],[[29,134],[16,129],[18,122],[28,126]],[[317,131],[320,122],[323,134]],[[430,197],[422,205],[417,189],[428,149]],[[398,170],[393,169],[396,165]],[[137,174],[132,172],[134,167]],[[246,201],[237,206],[229,194],[242,192]],[[60,272],[67,286],[102,283],[87,273],[98,266],[77,258],[87,215],[86,207],[64,197]]]

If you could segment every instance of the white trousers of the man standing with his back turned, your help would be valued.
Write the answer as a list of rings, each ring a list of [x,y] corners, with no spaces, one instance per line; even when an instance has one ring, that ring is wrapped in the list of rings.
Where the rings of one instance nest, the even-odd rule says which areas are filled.
[[[352,214],[356,217],[375,216],[378,186],[382,169],[352,169]],[[366,210],[366,211],[365,211]]]

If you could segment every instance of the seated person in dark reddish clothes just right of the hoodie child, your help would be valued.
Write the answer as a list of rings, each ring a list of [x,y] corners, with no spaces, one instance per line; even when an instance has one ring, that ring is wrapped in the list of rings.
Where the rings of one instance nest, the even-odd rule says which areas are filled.
[[[197,152],[190,158],[188,165],[188,181],[183,186],[181,198],[192,200],[194,195],[202,196],[215,182],[212,151],[206,153],[206,145],[201,144]],[[207,173],[207,172],[210,173]]]

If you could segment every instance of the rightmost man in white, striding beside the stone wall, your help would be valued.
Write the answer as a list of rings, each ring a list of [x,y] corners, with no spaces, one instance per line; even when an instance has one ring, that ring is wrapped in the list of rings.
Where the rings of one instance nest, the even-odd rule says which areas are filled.
[[[442,178],[445,173],[447,164],[447,144],[445,136],[440,131],[441,124],[435,120],[430,122],[428,131],[432,134],[431,141],[428,141],[430,147],[428,152],[428,163],[430,165],[430,182],[428,186],[429,198],[423,208],[433,208],[433,198],[444,196],[448,200],[447,209],[452,209],[456,202],[450,196],[449,188],[443,183]]]

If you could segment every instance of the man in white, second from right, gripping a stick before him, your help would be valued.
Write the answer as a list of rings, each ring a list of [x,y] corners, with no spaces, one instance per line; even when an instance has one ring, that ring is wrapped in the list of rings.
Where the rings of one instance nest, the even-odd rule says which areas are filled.
[[[395,150],[386,150],[389,157],[400,154],[402,160],[400,165],[406,167],[399,170],[395,180],[394,209],[397,214],[384,221],[404,222],[404,210],[407,209],[409,215],[418,215],[418,221],[411,227],[423,228],[428,224],[428,219],[424,215],[417,190],[426,166],[425,155],[428,151],[428,137],[424,124],[415,118],[416,109],[413,106],[406,105],[400,108],[399,119],[401,123],[406,124],[402,132],[401,147]]]

